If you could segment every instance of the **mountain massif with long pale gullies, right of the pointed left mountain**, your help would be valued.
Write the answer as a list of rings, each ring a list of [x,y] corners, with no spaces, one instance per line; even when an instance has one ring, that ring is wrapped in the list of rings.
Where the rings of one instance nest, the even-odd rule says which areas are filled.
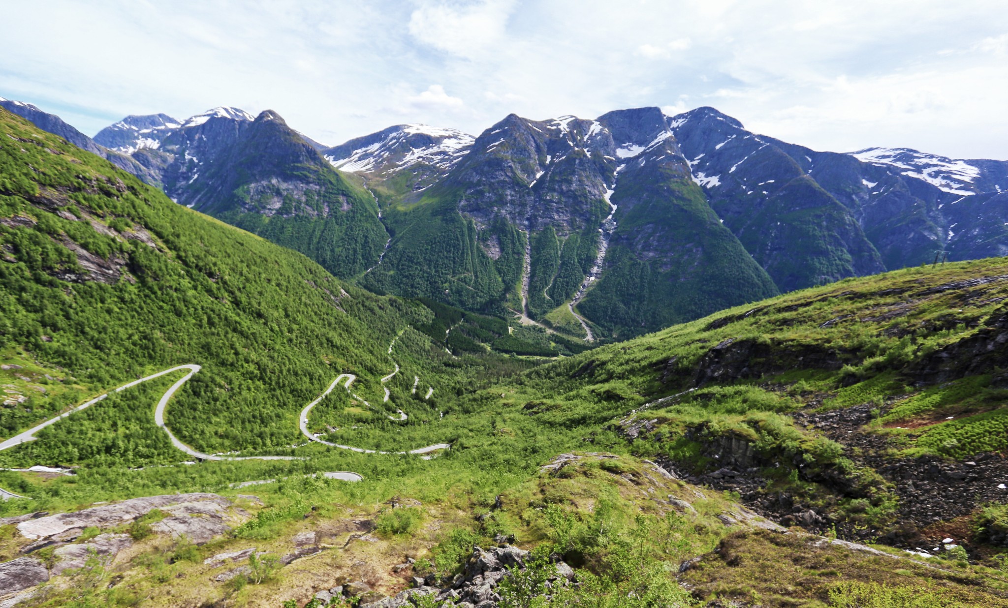
[[[403,137],[402,127],[391,127],[328,156],[365,177],[389,209],[386,223],[395,238],[365,284],[462,306],[503,304],[533,319],[566,323],[575,332],[575,317],[564,321],[561,311],[571,298],[604,333],[617,326],[640,331],[710,310],[701,303],[721,305],[725,300],[714,294],[731,283],[736,297],[752,299],[932,262],[935,255],[968,259],[1008,247],[999,224],[986,219],[1000,216],[992,214],[1000,199],[985,203],[979,219],[968,220],[963,210],[982,202],[964,195],[985,188],[996,193],[1001,181],[1008,182],[1006,162],[952,161],[905,150],[817,152],[751,133],[713,108],[674,117],[657,109],[617,111],[597,121],[511,115],[471,145],[455,148],[451,162],[422,170],[400,170],[408,149],[400,147],[398,156],[393,150]],[[659,186],[661,175],[690,183]],[[700,186],[700,206],[686,213],[694,219],[673,217],[671,209],[689,208],[673,201],[692,196],[692,184]],[[623,198],[631,191],[661,191],[661,203],[639,207]],[[647,210],[635,214],[632,208]],[[706,212],[735,239],[705,237],[697,218]],[[957,222],[971,227],[957,232]],[[539,232],[551,236],[537,241]],[[741,250],[732,249],[736,241]],[[717,277],[733,275],[715,270],[708,281],[688,285],[719,268],[709,257],[715,251],[725,256],[720,268],[745,278],[721,286]],[[750,257],[772,281],[752,274],[748,260],[735,263]],[[690,270],[675,275],[675,267]],[[674,285],[676,295],[662,285]],[[764,291],[768,286],[771,291]]]

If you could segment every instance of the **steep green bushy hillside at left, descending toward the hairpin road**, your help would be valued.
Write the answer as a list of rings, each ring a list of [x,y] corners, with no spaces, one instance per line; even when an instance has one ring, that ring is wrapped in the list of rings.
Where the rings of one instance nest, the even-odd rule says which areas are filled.
[[[0,352],[49,386],[3,409],[5,436],[88,395],[199,363],[169,411],[183,441],[208,451],[289,446],[303,404],[340,372],[387,373],[391,339],[430,314],[176,205],[10,114],[0,129]],[[85,269],[96,265],[105,282]],[[126,425],[116,439],[96,429],[46,431],[77,433],[66,453],[58,441],[17,450],[70,464],[76,444],[95,440],[89,453],[122,456],[158,433]]]

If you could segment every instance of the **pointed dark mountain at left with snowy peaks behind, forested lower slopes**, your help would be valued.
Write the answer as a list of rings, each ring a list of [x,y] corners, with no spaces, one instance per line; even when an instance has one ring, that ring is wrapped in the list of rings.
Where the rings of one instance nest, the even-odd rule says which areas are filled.
[[[133,116],[99,136],[131,150],[176,202],[304,253],[339,277],[373,266],[388,241],[374,198],[275,112]]]

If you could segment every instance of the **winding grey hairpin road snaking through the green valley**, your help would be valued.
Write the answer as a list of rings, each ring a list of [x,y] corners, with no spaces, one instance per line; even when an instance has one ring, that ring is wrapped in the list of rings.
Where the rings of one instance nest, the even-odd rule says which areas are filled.
[[[389,354],[391,354],[391,352],[392,352],[392,346],[395,344],[395,341],[399,338],[400,335],[402,335],[401,331],[399,332],[399,335],[395,336],[395,338],[392,339],[392,343],[389,344],[389,347],[388,347]],[[389,358],[391,358],[391,356]],[[389,379],[392,379],[392,377],[394,377],[395,374],[399,371],[399,364],[396,363],[394,359],[392,360],[392,363],[395,365],[395,369],[391,373],[389,373],[388,375],[386,375],[385,377],[381,378],[382,383],[385,383],[385,382],[387,382]],[[193,447],[191,447],[191,446],[182,443],[181,441],[179,441],[178,438],[175,437],[175,435],[168,429],[167,425],[165,425],[165,423],[164,423],[164,409],[167,406],[168,401],[175,394],[175,392],[178,391],[178,389],[180,389],[182,387],[182,385],[184,385],[190,378],[192,378],[193,375],[195,375],[198,371],[200,371],[202,369],[201,365],[197,365],[197,364],[194,364],[194,363],[186,363],[186,364],[182,364],[182,365],[177,365],[175,367],[170,367],[168,369],[164,369],[162,371],[158,371],[157,373],[152,373],[150,375],[146,375],[144,377],[141,377],[141,378],[135,379],[133,382],[127,383],[127,384],[123,385],[122,387],[119,387],[119,388],[115,389],[113,392],[114,393],[120,393],[122,391],[125,391],[126,389],[129,389],[131,387],[135,387],[135,386],[137,386],[139,384],[142,384],[142,383],[145,383],[147,381],[154,379],[156,377],[160,377],[162,375],[171,373],[173,371],[179,371],[179,370],[182,370],[182,369],[187,369],[188,373],[186,373],[185,375],[183,375],[182,377],[180,377],[173,385],[171,385],[171,387],[169,387],[167,391],[164,392],[164,394],[161,396],[161,399],[157,402],[157,407],[154,410],[154,424],[156,424],[158,427],[160,427],[168,435],[168,439],[171,440],[171,445],[174,446],[176,449],[184,452],[185,454],[187,454],[190,456],[193,456],[194,458],[200,459],[200,460],[218,460],[218,461],[223,461],[223,460],[306,460],[307,459],[307,457],[305,457],[305,456],[268,456],[268,455],[266,455],[266,456],[223,456],[223,455],[219,455],[219,454],[206,454],[206,453],[200,452],[200,451],[194,449]],[[329,394],[333,392],[333,389],[335,389],[341,383],[343,383],[344,387],[346,388],[347,392],[349,393],[350,392],[350,386],[356,379],[357,379],[357,375],[355,375],[353,373],[341,373],[340,375],[338,375],[336,377],[336,379],[333,381],[332,384],[330,384],[329,388],[326,389],[326,391],[323,392],[323,394],[320,395],[318,399],[316,399],[313,402],[311,402],[310,404],[308,404],[307,406],[305,406],[303,410],[301,410],[299,426],[300,426],[301,434],[304,435],[304,437],[306,437],[307,439],[309,439],[311,441],[314,441],[314,442],[318,442],[318,443],[322,443],[322,444],[327,445],[327,446],[341,448],[341,449],[344,449],[344,450],[351,450],[351,451],[359,452],[359,453],[362,453],[362,454],[428,454],[429,452],[434,452],[434,451],[437,451],[437,450],[447,450],[447,449],[449,449],[449,448],[452,447],[451,444],[448,444],[448,443],[437,443],[437,444],[429,445],[429,446],[426,446],[426,447],[423,447],[423,448],[418,448],[418,449],[415,449],[415,450],[409,450],[407,452],[383,452],[381,450],[368,450],[368,449],[364,449],[364,448],[356,448],[356,447],[352,447],[352,446],[345,446],[345,445],[340,445],[340,444],[336,444],[336,443],[331,443],[331,442],[328,442],[328,441],[320,439],[319,437],[317,437],[316,435],[313,435],[310,431],[308,431],[308,428],[307,428],[307,422],[308,422],[307,417],[308,417],[308,413],[311,411],[311,409],[314,408],[317,405],[319,405],[319,403],[321,403],[322,400],[326,399],[326,397],[328,397]],[[419,379],[420,379],[419,376],[414,376],[414,383],[413,383],[413,392],[414,393],[416,391],[416,384],[419,383]],[[429,388],[427,390],[427,395],[426,395],[426,397],[424,399],[429,399],[432,394],[433,394],[433,388]],[[0,442],[0,451],[6,450],[6,449],[9,449],[9,448],[13,448],[15,446],[18,446],[18,445],[20,445],[22,443],[27,443],[29,441],[35,441],[37,439],[35,437],[35,433],[37,433],[38,431],[41,431],[42,429],[48,427],[49,425],[55,424],[56,422],[62,420],[64,418],[67,418],[71,414],[74,414],[75,412],[80,412],[82,410],[90,408],[91,406],[94,406],[95,404],[97,404],[97,403],[99,403],[101,401],[104,401],[108,396],[109,396],[109,393],[105,393],[105,394],[99,395],[95,399],[92,399],[91,401],[85,402],[85,403],[81,404],[80,406],[74,408],[73,410],[70,410],[68,412],[64,412],[62,414],[60,414],[58,416],[55,416],[55,417],[53,417],[53,418],[51,418],[49,420],[46,420],[45,422],[43,422],[41,424],[38,424],[38,425],[36,425],[36,426],[28,429],[27,431],[23,431],[23,432],[15,435],[14,437],[11,437],[10,439],[7,439],[7,440],[5,440],[3,442]],[[366,402],[363,399],[357,397],[357,395],[353,395],[353,397],[356,398],[356,399],[358,399],[359,401],[363,402],[364,404],[368,405],[368,407],[371,407],[371,405],[368,404],[368,402]],[[388,391],[388,389],[385,389],[385,401],[386,402],[388,401],[388,398],[389,398],[389,391]],[[397,417],[396,416],[388,416],[388,415],[386,415],[386,416],[388,417],[389,420],[393,420],[393,421],[397,421],[397,422],[403,422],[403,421],[405,421],[407,419],[406,414],[402,410],[396,410],[396,412],[398,414]],[[423,458],[429,459],[431,457],[430,456],[423,456]],[[359,473],[355,473],[355,472],[352,472],[352,471],[331,471],[331,472],[326,472],[326,473],[321,473],[321,474],[323,476],[329,477],[331,479],[341,479],[343,481],[360,481],[360,480],[362,480],[364,478]],[[244,485],[254,485],[254,484],[258,484],[258,483],[270,483],[272,481],[275,481],[275,480],[273,480],[273,479],[263,479],[263,480],[256,480],[256,481],[247,481],[247,482],[242,482],[241,484],[237,484],[237,485],[235,485],[235,487],[244,487]],[[8,490],[0,488],[0,499],[9,500],[11,498],[25,498],[25,496],[21,496],[19,494],[15,494],[13,492],[10,492]]]

